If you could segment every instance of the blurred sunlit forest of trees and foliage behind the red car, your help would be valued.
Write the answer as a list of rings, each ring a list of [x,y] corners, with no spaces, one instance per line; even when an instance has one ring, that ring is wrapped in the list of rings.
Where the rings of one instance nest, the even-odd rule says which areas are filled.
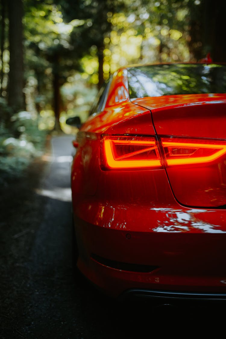
[[[134,63],[225,62],[225,0],[0,0],[0,184]]]

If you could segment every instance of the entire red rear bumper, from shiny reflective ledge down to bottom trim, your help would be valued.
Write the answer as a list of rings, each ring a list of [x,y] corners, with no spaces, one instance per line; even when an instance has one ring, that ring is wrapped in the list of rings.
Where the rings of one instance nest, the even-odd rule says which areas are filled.
[[[108,295],[226,294],[225,210],[183,207],[170,196],[167,207],[90,197],[74,217],[78,267]]]

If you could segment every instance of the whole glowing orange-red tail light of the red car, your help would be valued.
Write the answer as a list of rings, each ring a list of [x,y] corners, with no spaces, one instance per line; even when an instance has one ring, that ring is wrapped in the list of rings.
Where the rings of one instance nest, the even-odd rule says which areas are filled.
[[[109,169],[161,168],[212,162],[226,153],[226,141],[190,138],[103,136],[101,167]]]

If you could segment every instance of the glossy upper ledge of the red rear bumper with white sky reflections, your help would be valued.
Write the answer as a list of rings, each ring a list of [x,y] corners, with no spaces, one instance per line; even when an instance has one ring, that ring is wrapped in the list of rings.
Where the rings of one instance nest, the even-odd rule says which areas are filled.
[[[84,207],[84,206],[83,206]],[[133,205],[118,205],[113,207],[112,204],[106,202],[105,204],[90,203],[87,208],[87,212],[80,207],[82,213],[86,214],[89,222],[89,216],[95,222],[95,225],[104,228],[112,228],[115,230],[126,229],[130,232],[164,232],[164,233],[226,233],[225,227],[225,215],[221,220],[222,225],[217,225],[205,220],[205,222],[199,219],[199,215],[203,217],[218,211],[213,210],[195,210],[185,209],[178,210],[174,208],[160,208],[160,207],[149,207],[149,213],[145,212],[145,206]],[[134,208],[136,210],[134,212]],[[88,211],[90,215],[88,216]],[[133,214],[132,214],[133,213]],[[140,215],[145,213],[146,217],[149,216],[150,220],[156,224],[154,227],[150,227],[150,223],[147,221],[143,223],[142,227],[139,227]],[[128,222],[128,216],[130,216]],[[120,222],[118,221],[120,220]],[[136,227],[137,223],[137,227]]]

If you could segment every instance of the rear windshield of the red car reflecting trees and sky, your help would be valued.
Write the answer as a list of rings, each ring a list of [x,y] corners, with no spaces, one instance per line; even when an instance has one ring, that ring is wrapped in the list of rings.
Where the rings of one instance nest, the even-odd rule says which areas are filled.
[[[130,98],[226,93],[226,65],[169,64],[128,68]]]

